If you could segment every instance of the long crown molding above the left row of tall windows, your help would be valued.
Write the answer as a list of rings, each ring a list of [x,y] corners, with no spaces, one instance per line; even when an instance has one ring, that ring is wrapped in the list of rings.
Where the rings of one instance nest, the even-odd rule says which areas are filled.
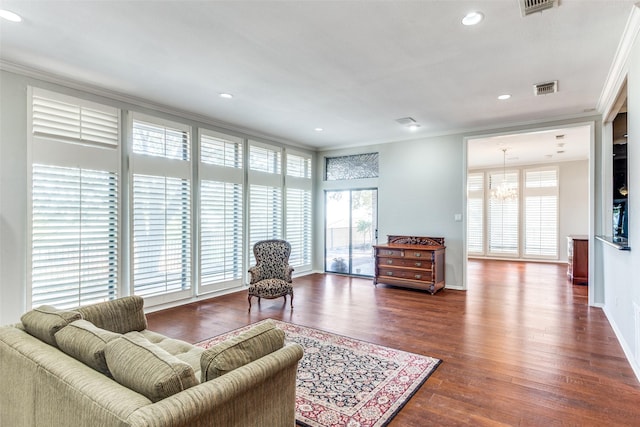
[[[181,109],[169,107],[164,104],[154,103],[143,98],[137,98],[135,96],[125,95],[121,92],[105,89],[104,87],[92,85],[89,83],[81,83],[67,77],[62,77],[60,75],[49,73],[41,69],[32,68],[25,65],[5,61],[3,59],[0,59],[0,70],[19,74],[21,76],[32,78],[32,79],[41,80],[47,83],[64,86],[66,88],[89,93],[91,95],[101,96],[113,101],[118,101],[118,102],[129,104],[132,106],[142,107],[144,109],[149,109],[149,110],[158,111],[165,114],[170,114],[178,118],[199,122],[199,123],[211,126],[213,128],[212,130],[217,130],[223,133],[225,132],[231,133],[234,136],[238,136],[241,138],[258,140],[267,144],[275,143],[279,145],[288,145],[291,147],[301,148],[301,149],[314,151],[314,152],[316,151],[315,148],[305,144],[301,144],[296,141],[289,141],[283,138],[278,138],[274,135],[261,133],[253,129],[248,129],[248,128],[233,125],[231,123],[215,120],[211,117],[193,113],[187,110],[181,110]]]

